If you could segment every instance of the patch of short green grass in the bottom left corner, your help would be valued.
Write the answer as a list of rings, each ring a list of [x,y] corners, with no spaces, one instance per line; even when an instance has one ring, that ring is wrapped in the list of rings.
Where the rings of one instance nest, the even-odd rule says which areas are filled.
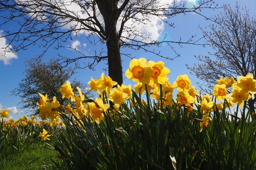
[[[55,170],[57,167],[53,161],[61,167],[63,161],[57,158],[55,150],[45,146],[46,144],[36,139],[23,153],[13,151],[12,154],[3,156],[0,170]],[[29,164],[30,162],[32,163]]]

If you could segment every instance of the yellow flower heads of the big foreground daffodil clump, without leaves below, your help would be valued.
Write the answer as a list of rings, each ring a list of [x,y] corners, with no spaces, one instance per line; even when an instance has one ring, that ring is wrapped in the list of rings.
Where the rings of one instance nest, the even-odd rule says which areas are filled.
[[[137,104],[137,102],[128,101],[131,99],[133,87],[136,94],[148,94],[149,97],[157,100],[158,105],[163,108],[174,105],[175,102],[177,109],[185,107],[190,113],[194,111],[193,105],[195,105],[195,102],[198,102],[201,109],[201,114],[198,114],[199,118],[201,116],[201,119],[198,119],[200,120],[199,131],[201,132],[203,127],[208,125],[210,112],[221,111],[223,105],[231,107],[237,104],[243,107],[244,100],[250,99],[250,94],[256,94],[256,80],[253,79],[253,74],[247,74],[245,77],[239,76],[237,81],[233,77],[221,77],[217,80],[212,96],[217,101],[227,100],[227,102],[217,104],[212,102],[212,97],[209,94],[198,95],[199,91],[191,85],[188,75],[179,75],[171,84],[167,77],[168,74],[170,74],[170,70],[164,66],[162,61],[147,61],[145,58],[132,59],[130,67],[125,71],[125,76],[134,80],[135,85],[118,85],[111,77],[102,73],[99,78],[91,77],[91,81],[88,82],[89,90],[98,92],[99,97],[86,99],[85,94],[79,87],[74,90],[71,88],[70,82],[67,81],[61,86],[60,92],[63,98],[66,97],[70,99],[70,102],[74,102],[75,107],[71,108],[70,103],[67,106],[60,106],[55,97],[48,99],[47,94],[45,96],[39,94],[41,96],[40,104],[38,103],[39,116],[43,120],[48,118],[52,122],[58,122],[59,114],[67,113],[70,116],[75,115],[78,119],[90,119],[91,122],[99,124],[102,119],[105,119],[104,115],[121,111],[124,103],[131,103],[131,106]],[[174,100],[173,92],[175,88],[177,88],[177,94]],[[232,88],[232,93],[227,94],[227,88]],[[79,95],[74,94],[74,91],[77,91]],[[108,101],[113,103],[112,108],[110,108]],[[148,105],[144,102],[143,104]],[[66,111],[63,112],[63,109]],[[73,118],[73,121],[76,123],[76,119]]]

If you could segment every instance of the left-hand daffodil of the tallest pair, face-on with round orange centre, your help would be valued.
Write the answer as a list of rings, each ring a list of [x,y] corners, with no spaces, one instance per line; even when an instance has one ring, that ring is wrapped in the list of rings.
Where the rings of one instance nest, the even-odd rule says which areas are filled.
[[[150,77],[153,74],[153,69],[148,66],[145,58],[132,59],[130,68],[125,71],[125,76],[128,79],[133,79],[135,82],[148,84]]]

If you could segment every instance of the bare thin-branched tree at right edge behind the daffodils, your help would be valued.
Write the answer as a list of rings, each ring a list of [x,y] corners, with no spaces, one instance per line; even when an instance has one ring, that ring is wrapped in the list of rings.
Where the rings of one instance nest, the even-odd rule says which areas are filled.
[[[252,73],[256,78],[256,20],[249,17],[249,11],[236,3],[235,10],[224,6],[224,13],[215,16],[211,31],[202,29],[214,53],[196,57],[200,63],[189,68],[199,79],[213,88],[220,77],[236,78]],[[202,87],[203,88],[203,87]],[[230,91],[230,89],[229,89]],[[255,112],[256,98],[248,100],[251,112]]]

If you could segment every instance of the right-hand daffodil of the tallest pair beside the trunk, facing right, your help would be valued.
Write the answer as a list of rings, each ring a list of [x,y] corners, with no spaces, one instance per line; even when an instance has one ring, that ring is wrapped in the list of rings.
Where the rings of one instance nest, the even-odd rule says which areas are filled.
[[[166,82],[166,76],[170,73],[170,70],[164,67],[164,62],[158,61],[148,61],[148,65],[153,69],[151,78],[154,83],[164,84]]]

